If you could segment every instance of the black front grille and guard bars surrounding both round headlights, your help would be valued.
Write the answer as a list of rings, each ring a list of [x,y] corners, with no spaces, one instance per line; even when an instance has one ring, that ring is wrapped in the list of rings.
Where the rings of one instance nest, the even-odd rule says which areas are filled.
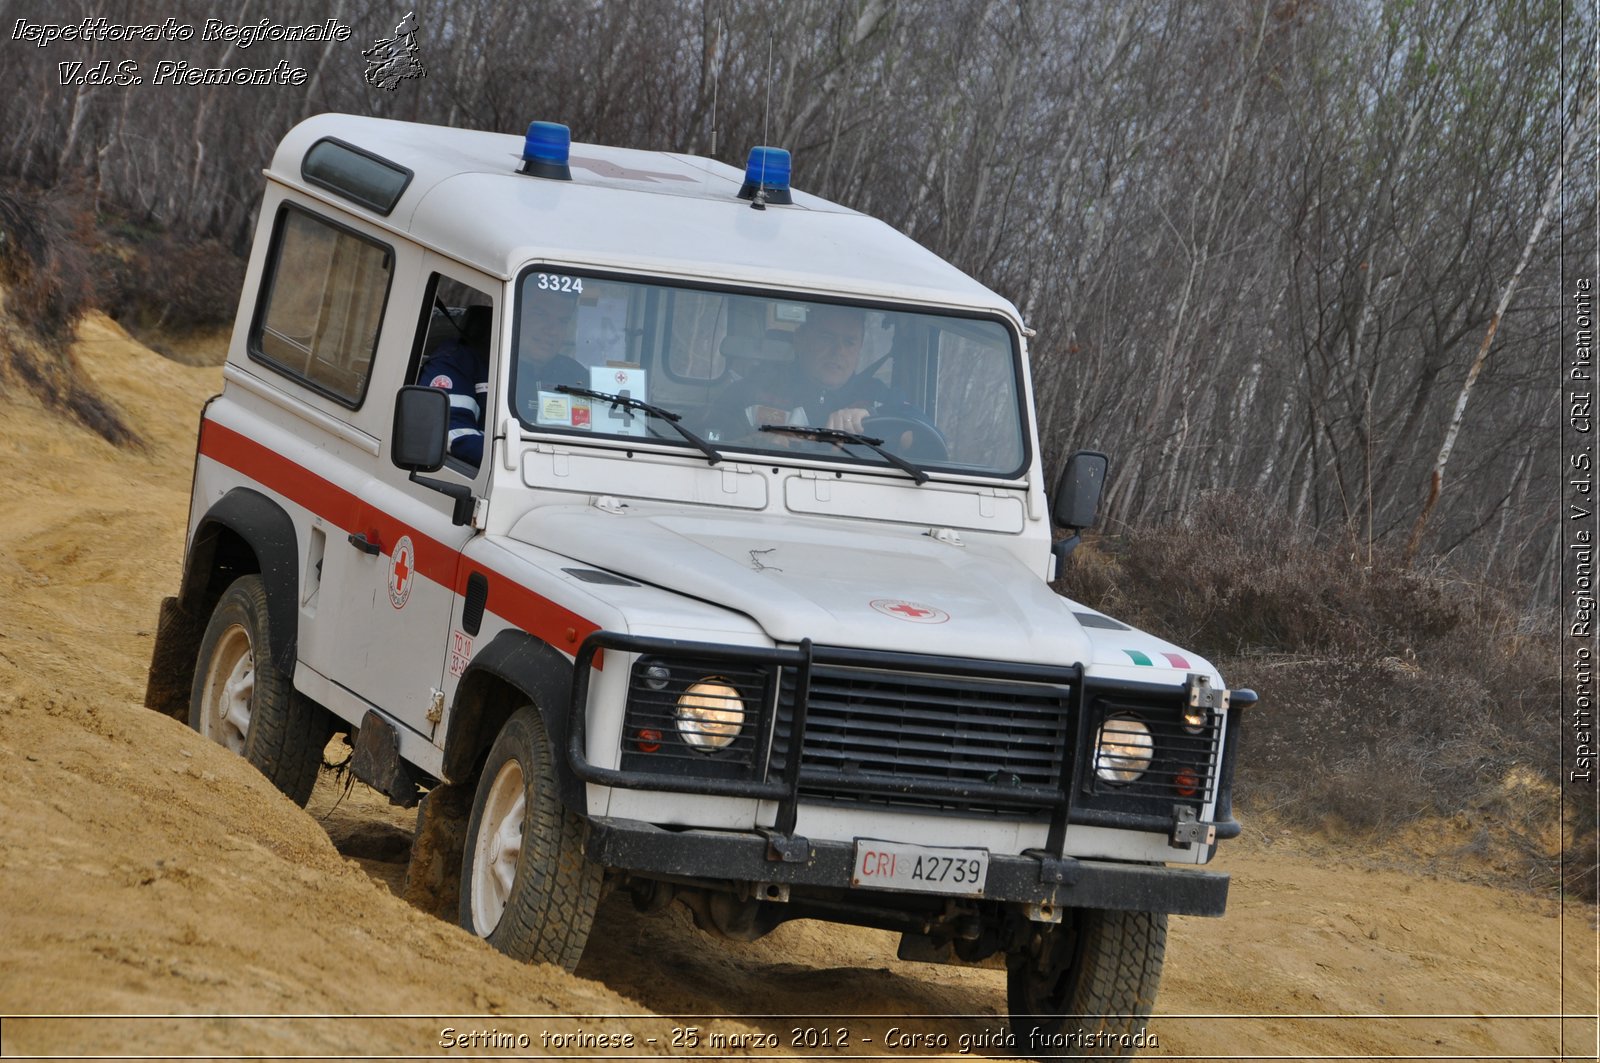
[[[618,768],[581,752],[587,676],[602,650],[640,655],[629,671]],[[1083,690],[1082,666],[614,632],[584,642],[576,674],[571,760],[579,778],[776,800],[779,831],[794,829],[795,804],[808,800],[1048,820],[1058,845],[1067,823],[1165,831],[1186,808],[1198,813],[1226,799],[1227,716],[1208,712],[1189,732],[1189,685],[1099,682]],[[694,749],[678,727],[680,700],[702,680],[733,687],[744,708],[744,725],[725,749]],[[702,698],[701,717],[731,727],[717,714],[733,696]],[[1118,717],[1138,727],[1118,725]],[[1098,756],[1107,722],[1122,728],[1123,748]],[[1099,778],[1096,767],[1134,778]]]

